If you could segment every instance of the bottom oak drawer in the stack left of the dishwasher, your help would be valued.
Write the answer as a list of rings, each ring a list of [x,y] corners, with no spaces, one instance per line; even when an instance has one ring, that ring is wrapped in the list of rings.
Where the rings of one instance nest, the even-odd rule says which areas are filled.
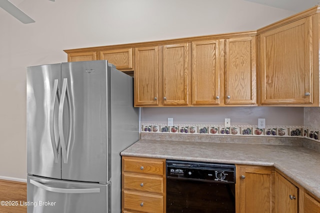
[[[123,191],[124,209],[163,213],[163,196]]]

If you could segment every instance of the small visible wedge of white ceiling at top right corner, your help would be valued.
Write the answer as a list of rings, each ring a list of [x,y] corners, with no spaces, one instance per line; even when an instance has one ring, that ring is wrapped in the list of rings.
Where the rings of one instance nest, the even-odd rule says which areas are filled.
[[[264,4],[276,8],[300,12],[312,6],[318,5],[320,0],[246,0],[254,3]]]

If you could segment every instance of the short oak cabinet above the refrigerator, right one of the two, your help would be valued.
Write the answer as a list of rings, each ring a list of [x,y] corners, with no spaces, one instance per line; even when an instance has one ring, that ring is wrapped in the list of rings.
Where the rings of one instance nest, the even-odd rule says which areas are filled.
[[[100,60],[108,60],[118,70],[133,70],[132,48],[99,51]]]

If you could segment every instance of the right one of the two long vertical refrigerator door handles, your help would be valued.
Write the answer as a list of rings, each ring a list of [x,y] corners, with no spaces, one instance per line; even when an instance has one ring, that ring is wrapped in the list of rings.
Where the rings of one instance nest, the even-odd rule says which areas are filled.
[[[59,104],[59,116],[58,116],[58,123],[59,123],[59,137],[61,141],[61,150],[62,150],[62,157],[63,157],[63,163],[68,163],[68,154],[67,154],[67,144],[64,142],[64,135],[63,135],[63,105],[64,100],[67,101],[67,107],[68,107],[68,114],[69,114],[69,127],[68,127],[68,134],[67,134],[67,143],[70,144],[71,140],[71,126],[72,126],[72,119],[71,119],[71,102],[70,102],[70,93],[68,89],[68,81],[67,78],[63,78],[62,83],[62,91],[61,91],[61,98],[60,98],[60,104]]]

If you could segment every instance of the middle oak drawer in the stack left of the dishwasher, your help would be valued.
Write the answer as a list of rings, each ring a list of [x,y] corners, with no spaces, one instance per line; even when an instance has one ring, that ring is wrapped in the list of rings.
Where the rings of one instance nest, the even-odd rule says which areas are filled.
[[[123,188],[129,190],[162,194],[163,178],[124,174]]]

